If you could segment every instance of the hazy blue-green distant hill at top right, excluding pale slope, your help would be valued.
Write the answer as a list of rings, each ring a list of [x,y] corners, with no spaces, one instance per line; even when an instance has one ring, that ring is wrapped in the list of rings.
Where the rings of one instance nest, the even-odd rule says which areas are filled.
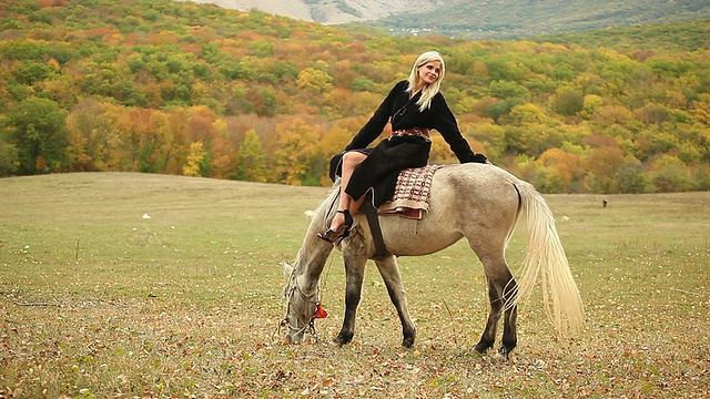
[[[372,25],[397,34],[417,31],[462,39],[517,39],[612,27],[710,19],[699,0],[457,1],[420,13],[379,19]]]

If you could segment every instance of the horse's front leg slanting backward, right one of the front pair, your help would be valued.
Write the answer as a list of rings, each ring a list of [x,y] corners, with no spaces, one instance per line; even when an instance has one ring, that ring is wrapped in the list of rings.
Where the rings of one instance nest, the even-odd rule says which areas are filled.
[[[385,282],[387,293],[389,294],[389,299],[397,309],[397,315],[399,315],[399,321],[402,323],[402,335],[404,337],[402,339],[402,346],[405,348],[412,348],[414,346],[414,340],[417,334],[414,321],[412,320],[412,316],[409,315],[407,295],[404,289],[402,276],[399,275],[397,260],[394,256],[389,256],[383,260],[375,260],[375,264],[377,265],[377,269],[379,270],[379,274]]]

